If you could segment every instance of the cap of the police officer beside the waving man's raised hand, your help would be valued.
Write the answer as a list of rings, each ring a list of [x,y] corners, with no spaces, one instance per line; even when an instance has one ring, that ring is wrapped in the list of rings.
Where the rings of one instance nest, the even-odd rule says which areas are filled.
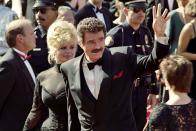
[[[146,0],[131,0],[129,2],[125,2],[125,6],[147,8],[147,3]]]

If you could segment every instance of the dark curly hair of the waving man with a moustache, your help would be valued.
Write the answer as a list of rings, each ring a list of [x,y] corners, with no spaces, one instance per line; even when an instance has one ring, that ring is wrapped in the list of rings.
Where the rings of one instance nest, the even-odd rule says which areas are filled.
[[[77,26],[77,33],[81,42],[83,42],[85,32],[97,33],[100,31],[103,31],[104,36],[106,35],[106,27],[104,23],[94,17],[83,19]]]

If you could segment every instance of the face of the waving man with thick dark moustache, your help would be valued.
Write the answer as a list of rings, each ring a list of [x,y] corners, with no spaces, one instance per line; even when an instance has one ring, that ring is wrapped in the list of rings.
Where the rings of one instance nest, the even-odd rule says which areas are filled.
[[[83,43],[80,44],[84,50],[87,60],[96,62],[103,55],[105,48],[105,36],[103,31],[97,33],[85,32]]]

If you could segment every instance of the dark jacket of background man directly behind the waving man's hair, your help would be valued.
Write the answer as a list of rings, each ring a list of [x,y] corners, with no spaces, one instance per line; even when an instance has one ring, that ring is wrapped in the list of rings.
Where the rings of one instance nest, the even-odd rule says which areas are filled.
[[[91,5],[90,3],[87,3],[83,8],[81,8],[75,15],[75,25],[77,26],[78,23],[84,18],[88,18],[88,17],[97,18],[93,8],[94,8],[93,5]],[[113,25],[114,17],[112,13],[110,13],[109,10],[105,7],[102,7],[102,13],[106,24],[106,29],[108,31],[114,26]]]

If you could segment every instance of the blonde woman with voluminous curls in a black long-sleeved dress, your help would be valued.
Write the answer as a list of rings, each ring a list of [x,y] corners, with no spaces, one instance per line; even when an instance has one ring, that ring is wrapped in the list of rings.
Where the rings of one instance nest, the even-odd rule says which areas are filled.
[[[26,119],[24,130],[67,131],[67,107],[65,83],[60,64],[72,59],[77,48],[77,33],[73,24],[54,22],[48,30],[48,60],[54,66],[37,77],[32,109]]]

